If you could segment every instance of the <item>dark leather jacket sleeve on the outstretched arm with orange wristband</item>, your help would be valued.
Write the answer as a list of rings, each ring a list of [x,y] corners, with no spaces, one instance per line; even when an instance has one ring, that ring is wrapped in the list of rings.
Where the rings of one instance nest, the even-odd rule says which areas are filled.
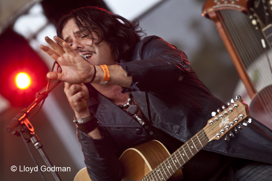
[[[137,43],[131,60],[121,62],[121,66],[132,75],[130,88],[140,91],[164,90],[191,70],[184,52],[156,36]]]

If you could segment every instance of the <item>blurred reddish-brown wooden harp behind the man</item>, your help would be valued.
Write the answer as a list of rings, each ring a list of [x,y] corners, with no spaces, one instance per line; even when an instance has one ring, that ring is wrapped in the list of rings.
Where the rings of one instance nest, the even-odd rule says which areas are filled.
[[[251,97],[250,112],[272,129],[272,0],[207,0],[214,21]]]

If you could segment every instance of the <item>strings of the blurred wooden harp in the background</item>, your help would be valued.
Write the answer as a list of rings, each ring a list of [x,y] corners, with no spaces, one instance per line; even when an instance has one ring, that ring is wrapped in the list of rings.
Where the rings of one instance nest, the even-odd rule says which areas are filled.
[[[271,71],[267,68],[270,63],[269,59],[266,58],[267,61],[258,60],[264,56],[265,52],[261,45],[261,38],[258,40],[252,27],[248,23],[248,17],[235,10],[221,10],[219,13],[221,16],[219,15],[218,17],[220,21],[225,24],[242,63],[251,77],[251,81],[254,81],[254,71],[250,73],[249,69],[251,69],[251,71],[256,69],[264,75],[261,81],[253,82],[254,88],[260,91],[264,87],[271,85],[272,75]],[[266,89],[258,92],[257,97],[264,111],[270,117],[270,120],[272,120],[272,86],[268,86]]]

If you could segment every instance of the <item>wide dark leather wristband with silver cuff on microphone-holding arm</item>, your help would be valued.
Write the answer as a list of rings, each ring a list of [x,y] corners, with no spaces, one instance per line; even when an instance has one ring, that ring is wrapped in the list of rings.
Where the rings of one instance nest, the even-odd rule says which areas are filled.
[[[74,117],[74,122],[76,123],[77,129],[85,133],[89,133],[96,128],[97,119],[94,116],[93,112],[90,114],[91,114],[90,116],[83,119],[76,119]]]

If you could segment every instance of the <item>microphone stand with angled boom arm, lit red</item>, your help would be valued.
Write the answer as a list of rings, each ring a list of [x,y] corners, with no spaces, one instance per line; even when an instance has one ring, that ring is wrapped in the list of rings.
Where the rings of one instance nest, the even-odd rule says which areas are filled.
[[[9,123],[9,125],[5,128],[6,132],[10,133],[13,131],[17,126],[21,126],[23,129],[21,131],[26,132],[29,135],[29,139],[31,142],[34,144],[34,147],[40,152],[41,156],[43,157],[45,163],[47,164],[48,167],[50,167],[51,173],[53,174],[54,178],[57,181],[61,181],[60,176],[58,173],[54,170],[52,171],[52,163],[50,159],[48,158],[47,154],[45,153],[42,142],[39,140],[38,136],[34,133],[34,127],[32,124],[29,122],[27,119],[30,111],[38,105],[42,100],[44,100],[49,92],[53,90],[55,87],[57,87],[58,84],[60,84],[61,81],[56,82],[53,84],[47,91],[44,91],[42,93],[38,94],[38,97],[27,107],[21,110],[20,113],[18,113]],[[13,135],[20,136],[20,133],[17,130],[14,130],[12,132]],[[29,141],[27,139],[26,141]]]

